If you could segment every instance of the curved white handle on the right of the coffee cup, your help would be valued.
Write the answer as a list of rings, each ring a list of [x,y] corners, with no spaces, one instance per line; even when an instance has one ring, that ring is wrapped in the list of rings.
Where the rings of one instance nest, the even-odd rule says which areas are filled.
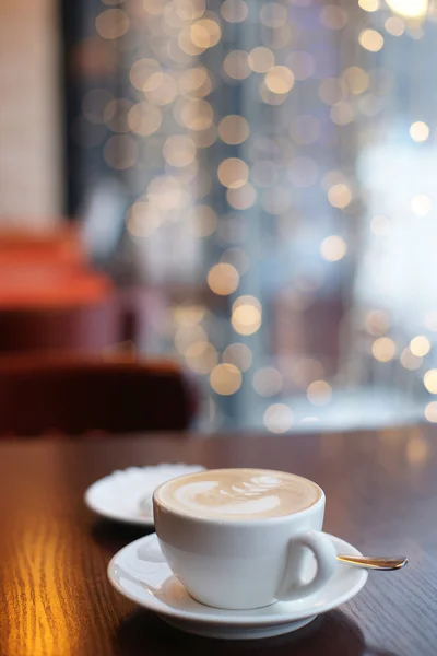
[[[303,583],[299,577],[303,547],[310,549],[317,561],[316,574],[308,583]],[[318,530],[308,530],[294,536],[288,542],[285,575],[276,598],[283,601],[292,601],[317,593],[331,578],[335,566],[336,551],[328,536]]]

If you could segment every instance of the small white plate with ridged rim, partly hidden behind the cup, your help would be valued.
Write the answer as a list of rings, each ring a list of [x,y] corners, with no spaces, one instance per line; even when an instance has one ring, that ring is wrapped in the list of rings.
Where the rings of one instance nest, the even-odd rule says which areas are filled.
[[[152,494],[157,485],[203,469],[200,465],[182,464],[128,467],[93,483],[85,492],[85,504],[108,519],[153,526]]]

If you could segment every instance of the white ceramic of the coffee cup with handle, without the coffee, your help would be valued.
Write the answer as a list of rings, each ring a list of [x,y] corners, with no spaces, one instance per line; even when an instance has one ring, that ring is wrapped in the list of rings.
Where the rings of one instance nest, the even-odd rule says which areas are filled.
[[[270,470],[210,470],[223,472]],[[218,472],[218,473],[217,473]],[[161,549],[175,576],[188,593],[208,606],[225,609],[252,609],[277,600],[293,600],[320,590],[334,572],[336,553],[321,532],[324,493],[316,483],[293,477],[297,484],[312,485],[315,499],[308,507],[279,516],[241,518],[202,512],[186,512],[168,503],[168,485],[186,489],[196,482],[187,475],[160,485],[153,496],[155,529]],[[202,479],[204,480],[204,479]],[[243,491],[243,497],[244,497]],[[241,495],[239,495],[241,499]],[[249,496],[248,496],[249,500]],[[312,557],[311,557],[312,552]],[[311,577],[311,573],[316,573]],[[311,562],[312,561],[312,562]]]

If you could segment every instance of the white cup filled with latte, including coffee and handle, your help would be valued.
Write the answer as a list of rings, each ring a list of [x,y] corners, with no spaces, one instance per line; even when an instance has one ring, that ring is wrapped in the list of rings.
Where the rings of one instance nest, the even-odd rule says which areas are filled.
[[[321,532],[324,494],[303,477],[206,470],[163,483],[153,505],[172,571],[208,606],[250,609],[302,598],[333,574],[335,550]]]

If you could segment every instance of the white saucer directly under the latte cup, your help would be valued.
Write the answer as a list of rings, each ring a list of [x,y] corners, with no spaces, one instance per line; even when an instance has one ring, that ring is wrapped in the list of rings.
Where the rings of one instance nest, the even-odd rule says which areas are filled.
[[[361,555],[344,540],[329,537],[338,553]],[[305,626],[321,612],[354,597],[366,583],[367,572],[339,563],[321,593],[256,610],[222,610],[190,597],[173,575],[153,534],[121,549],[109,563],[108,577],[121,595],[173,626],[210,637],[241,640],[281,635]]]

